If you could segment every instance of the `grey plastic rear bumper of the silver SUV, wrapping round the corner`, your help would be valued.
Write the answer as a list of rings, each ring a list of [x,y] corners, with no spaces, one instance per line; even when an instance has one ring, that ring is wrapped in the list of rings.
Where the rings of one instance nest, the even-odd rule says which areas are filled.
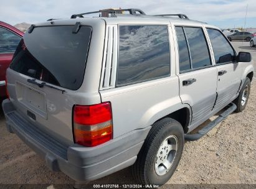
[[[64,146],[22,118],[9,99],[2,101],[6,127],[45,159],[47,167],[80,182],[105,177],[135,163],[151,129],[138,129],[96,147]]]

